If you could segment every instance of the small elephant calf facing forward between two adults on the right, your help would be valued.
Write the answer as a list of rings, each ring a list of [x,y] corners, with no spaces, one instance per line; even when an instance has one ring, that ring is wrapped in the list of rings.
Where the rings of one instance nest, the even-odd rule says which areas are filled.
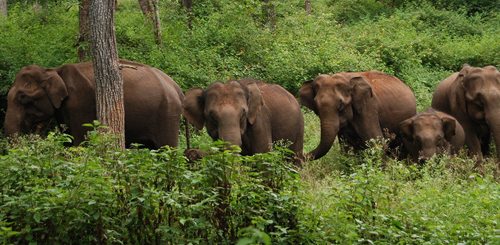
[[[399,124],[404,148],[420,163],[436,153],[456,153],[465,141],[462,126],[454,117],[429,107]]]

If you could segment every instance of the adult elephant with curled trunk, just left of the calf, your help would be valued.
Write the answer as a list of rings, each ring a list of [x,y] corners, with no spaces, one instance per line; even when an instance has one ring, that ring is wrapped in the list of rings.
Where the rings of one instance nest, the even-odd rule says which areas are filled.
[[[383,138],[382,130],[387,128],[396,135],[389,147],[396,147],[402,141],[399,123],[416,114],[411,89],[376,70],[319,75],[302,84],[298,102],[321,122],[319,145],[308,153],[314,159],[329,151],[337,134],[349,146],[361,149],[367,140]]]

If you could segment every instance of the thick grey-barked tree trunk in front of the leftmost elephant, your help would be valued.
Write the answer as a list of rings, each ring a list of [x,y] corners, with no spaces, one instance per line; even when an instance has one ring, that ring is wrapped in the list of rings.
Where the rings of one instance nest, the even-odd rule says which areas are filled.
[[[119,147],[125,149],[123,73],[116,49],[114,0],[90,0],[89,24],[97,120],[119,137]]]

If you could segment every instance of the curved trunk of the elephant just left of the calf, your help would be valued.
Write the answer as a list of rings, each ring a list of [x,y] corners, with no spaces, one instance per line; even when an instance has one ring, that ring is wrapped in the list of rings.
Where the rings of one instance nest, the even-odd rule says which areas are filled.
[[[338,117],[321,117],[323,115],[331,115],[330,113],[320,113],[321,118],[321,139],[319,145],[307,155],[312,155],[314,160],[321,158],[326,155],[335,141],[335,137],[340,129],[340,123]]]

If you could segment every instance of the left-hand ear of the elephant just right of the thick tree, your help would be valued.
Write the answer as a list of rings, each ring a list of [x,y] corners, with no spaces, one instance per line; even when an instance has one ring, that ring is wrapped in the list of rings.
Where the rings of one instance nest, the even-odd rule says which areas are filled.
[[[182,115],[189,120],[198,130],[205,124],[205,108],[203,101],[203,88],[193,87],[187,90],[182,100]]]

